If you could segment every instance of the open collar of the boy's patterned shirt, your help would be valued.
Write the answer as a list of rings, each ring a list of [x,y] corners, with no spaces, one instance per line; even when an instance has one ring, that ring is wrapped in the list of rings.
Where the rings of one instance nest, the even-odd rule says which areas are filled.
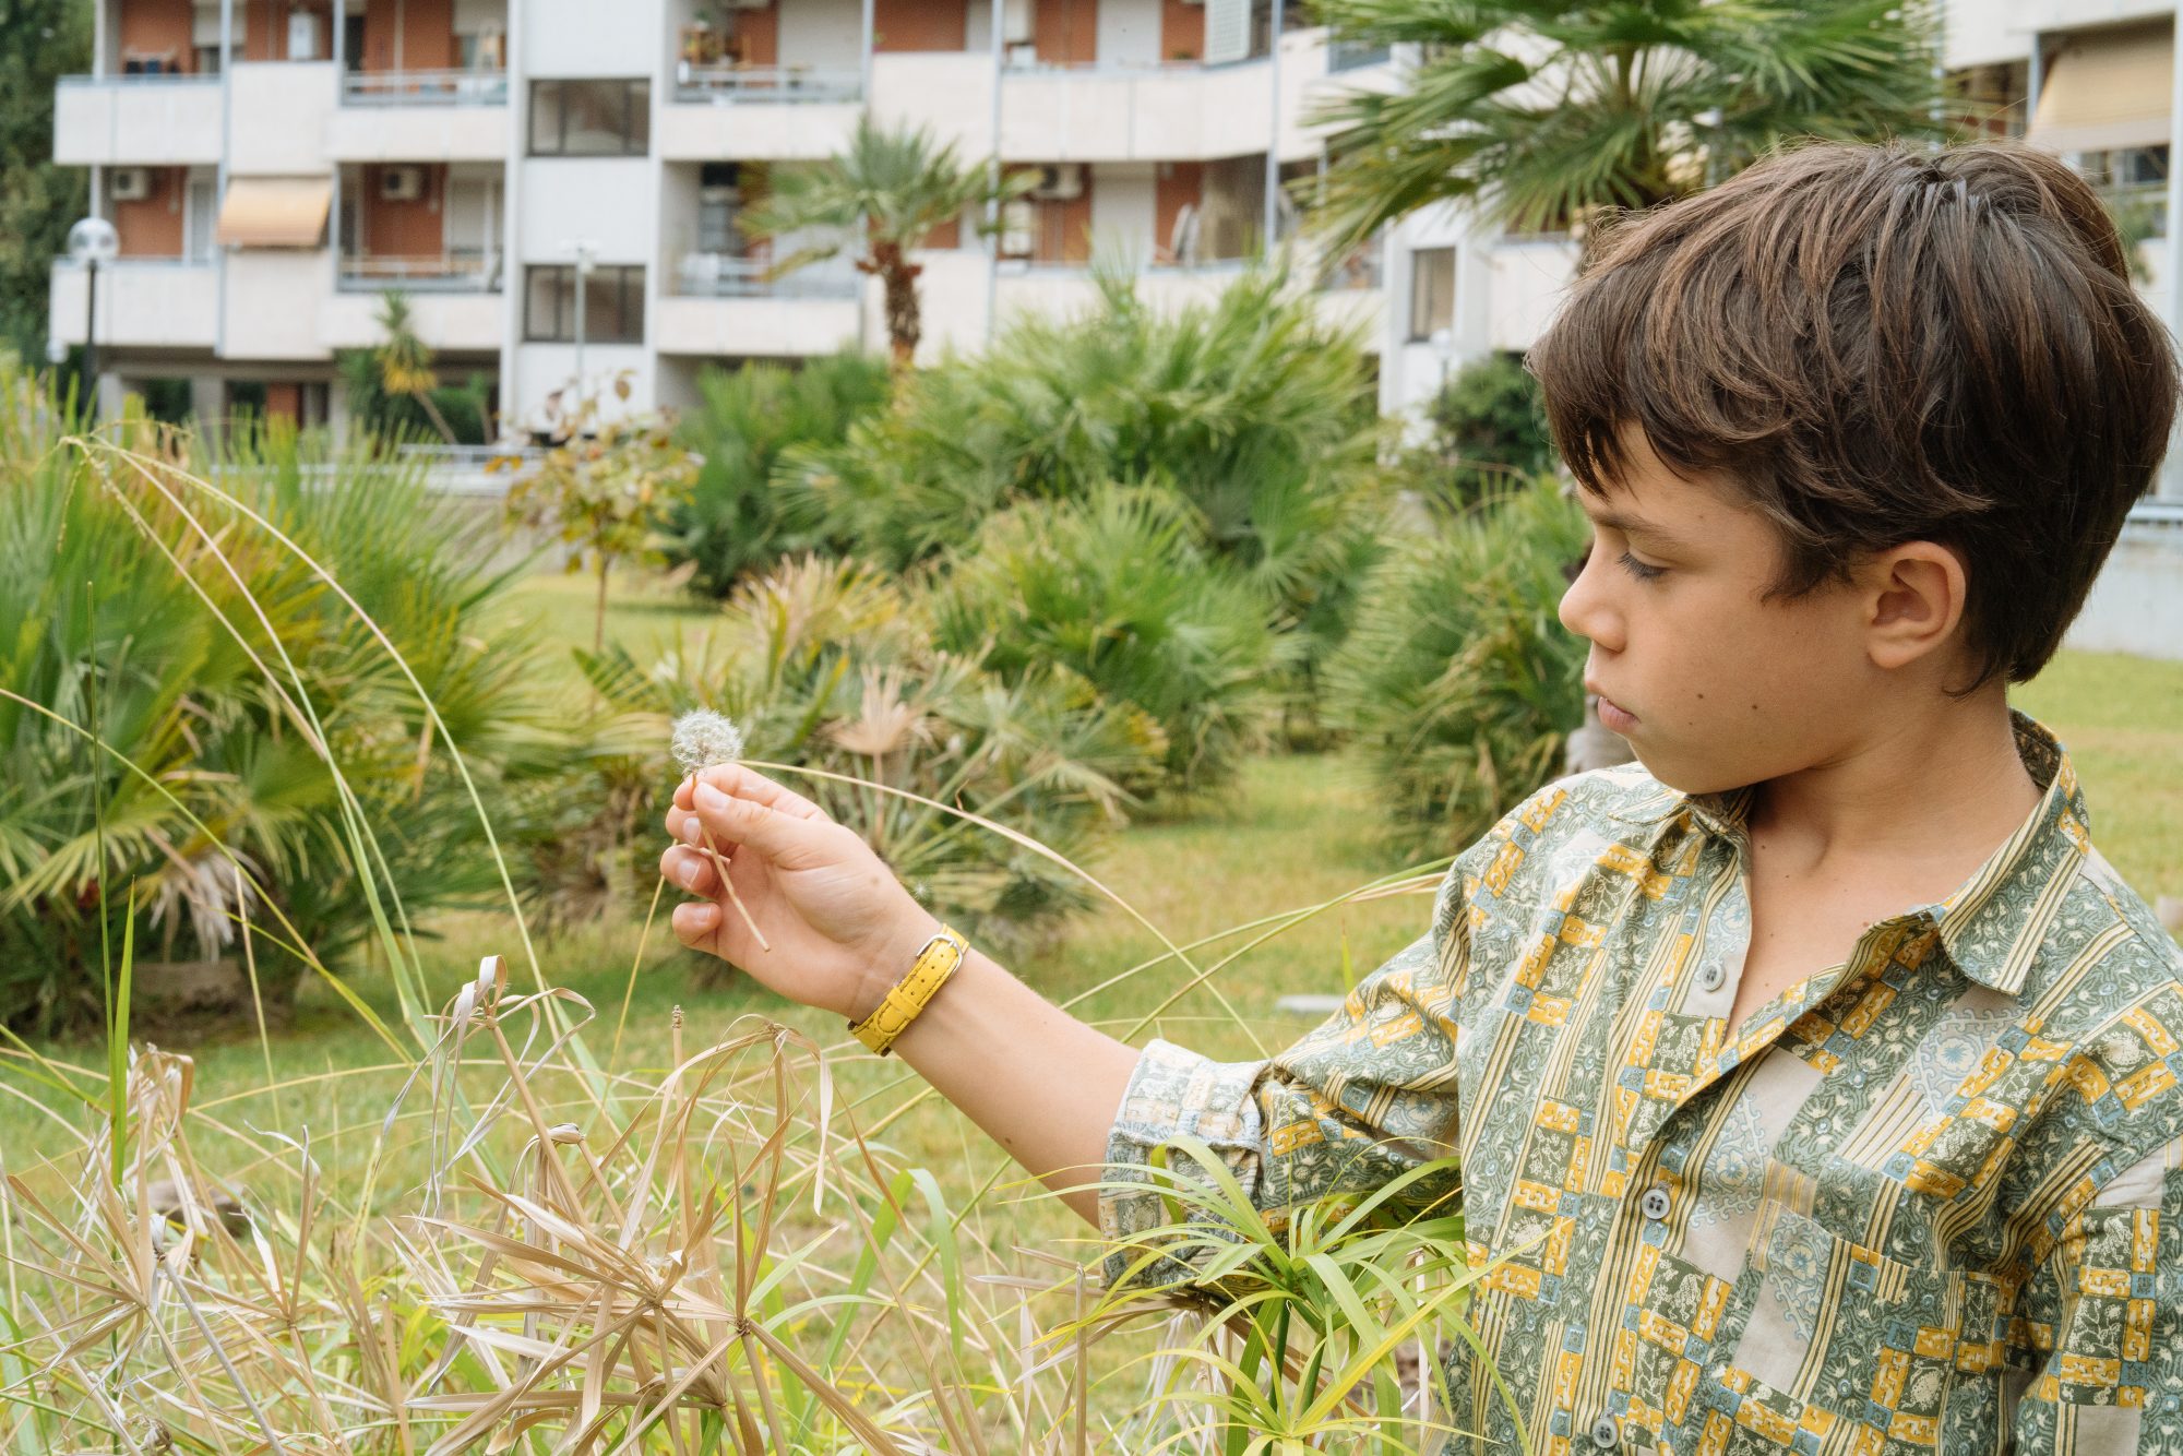
[[[2011,709],[2017,757],[2039,788],[2039,805],[1978,871],[1936,904],[1910,906],[1901,919],[1939,930],[1941,947],[1971,980],[2015,995],[2032,969],[2052,891],[2076,873],[2091,851],[2091,814],[2069,753],[2043,725]],[[1707,834],[1742,840],[1753,790],[1683,795],[1663,784],[1615,810],[1631,823],[1661,823],[1687,814]]]

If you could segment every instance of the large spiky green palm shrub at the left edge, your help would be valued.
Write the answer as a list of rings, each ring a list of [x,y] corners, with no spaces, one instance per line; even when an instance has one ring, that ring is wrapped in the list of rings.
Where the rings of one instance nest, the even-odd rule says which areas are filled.
[[[275,1009],[303,969],[279,941],[334,969],[382,912],[489,897],[445,738],[491,786],[546,733],[528,655],[487,622],[489,522],[369,441],[332,456],[282,421],[231,428],[212,472],[343,583],[434,725],[373,629],[177,445],[142,421],[153,454],[63,445],[35,391],[0,371],[0,1019],[96,1017],[100,930],[120,943],[131,893],[144,960],[238,958],[240,899]]]

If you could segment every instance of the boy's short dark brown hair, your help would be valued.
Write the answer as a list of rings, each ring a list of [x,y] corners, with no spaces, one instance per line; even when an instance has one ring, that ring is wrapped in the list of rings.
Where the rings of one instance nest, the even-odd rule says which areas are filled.
[[[1775,596],[1956,550],[1978,683],[2054,655],[2176,406],[2107,207],[2006,144],[1799,146],[1594,229],[1528,365],[1587,489],[1624,423],[1733,480],[1779,528]]]

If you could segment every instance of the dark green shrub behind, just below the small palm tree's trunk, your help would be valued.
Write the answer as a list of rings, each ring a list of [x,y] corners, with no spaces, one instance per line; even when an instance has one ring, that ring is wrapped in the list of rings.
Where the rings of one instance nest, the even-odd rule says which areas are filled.
[[[690,565],[694,589],[727,596],[751,572],[825,544],[810,511],[784,511],[773,472],[786,450],[838,445],[849,426],[880,408],[886,362],[838,354],[801,369],[707,369],[699,395],[679,437],[705,465],[688,504],[668,520],[668,561]]]

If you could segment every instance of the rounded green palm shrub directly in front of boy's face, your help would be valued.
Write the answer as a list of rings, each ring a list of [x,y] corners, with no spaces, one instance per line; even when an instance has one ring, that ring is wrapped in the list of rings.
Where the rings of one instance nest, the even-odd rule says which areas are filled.
[[[1554,777],[1583,720],[1585,644],[1556,620],[1585,515],[1556,485],[1397,550],[1327,668],[1404,854],[1456,854]]]

